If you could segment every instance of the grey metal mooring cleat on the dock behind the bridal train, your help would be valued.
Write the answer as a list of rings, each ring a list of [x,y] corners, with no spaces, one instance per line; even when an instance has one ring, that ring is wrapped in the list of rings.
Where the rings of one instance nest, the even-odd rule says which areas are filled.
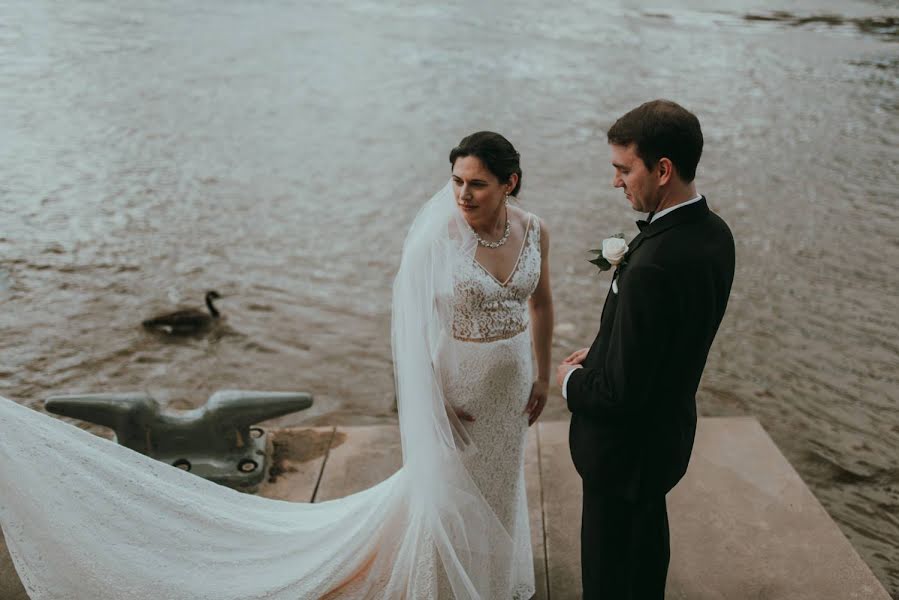
[[[305,410],[312,395],[221,390],[200,408],[164,411],[144,393],[53,396],[58,415],[109,427],[116,441],[200,477],[254,492],[267,471],[266,434],[255,423]]]

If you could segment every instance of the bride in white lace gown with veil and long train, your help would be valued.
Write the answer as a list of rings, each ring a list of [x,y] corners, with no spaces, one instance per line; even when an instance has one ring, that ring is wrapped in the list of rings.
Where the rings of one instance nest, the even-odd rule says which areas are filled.
[[[0,526],[32,599],[527,599],[527,427],[546,403],[549,239],[479,132],[393,288],[403,467],[319,504],[241,494],[0,398]],[[532,347],[537,373],[532,367]]]

